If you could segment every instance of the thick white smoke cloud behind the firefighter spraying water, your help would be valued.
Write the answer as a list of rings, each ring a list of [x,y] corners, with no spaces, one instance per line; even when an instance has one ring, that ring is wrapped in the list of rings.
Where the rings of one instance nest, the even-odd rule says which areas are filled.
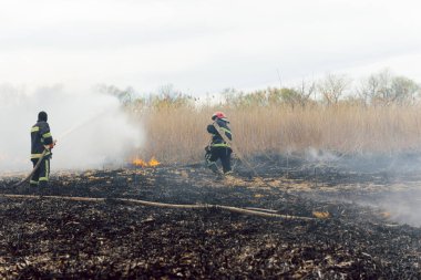
[[[40,111],[58,141],[52,169],[121,165],[142,144],[142,127],[130,123],[114,96],[61,85],[0,85],[0,174],[31,169],[30,128]]]

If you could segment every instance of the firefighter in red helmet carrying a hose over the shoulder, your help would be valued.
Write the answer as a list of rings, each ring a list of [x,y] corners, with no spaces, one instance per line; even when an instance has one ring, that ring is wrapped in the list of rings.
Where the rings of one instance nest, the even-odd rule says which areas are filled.
[[[229,122],[223,112],[215,112],[212,115],[212,121],[220,127],[222,133],[224,133],[229,141],[233,139],[232,132],[228,127]],[[207,167],[215,174],[220,175],[218,166],[216,165],[216,160],[220,159],[224,175],[232,174],[230,154],[233,149],[229,143],[224,141],[214,124],[207,126],[207,132],[212,134],[210,144],[205,148]]]

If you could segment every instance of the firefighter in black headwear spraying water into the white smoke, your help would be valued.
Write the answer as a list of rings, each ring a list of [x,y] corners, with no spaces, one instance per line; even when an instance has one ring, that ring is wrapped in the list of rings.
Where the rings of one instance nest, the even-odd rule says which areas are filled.
[[[30,185],[33,187],[39,186],[40,188],[44,188],[48,185],[50,177],[50,159],[52,155],[51,149],[55,145],[47,120],[47,113],[40,112],[38,114],[37,124],[34,124],[31,128],[31,162],[33,167],[35,167],[38,160],[41,160],[41,164],[32,175]],[[44,149],[47,153],[42,157]]]

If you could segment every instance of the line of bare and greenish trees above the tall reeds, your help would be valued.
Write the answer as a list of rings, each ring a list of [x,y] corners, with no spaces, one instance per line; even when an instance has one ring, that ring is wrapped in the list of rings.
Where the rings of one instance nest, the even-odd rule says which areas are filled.
[[[157,93],[136,94],[133,87],[120,90],[113,85],[99,85],[99,92],[116,96],[126,106],[136,107],[184,107],[202,105],[225,106],[309,106],[315,104],[336,105],[340,103],[363,106],[413,105],[421,97],[421,85],[415,81],[392,74],[388,70],[371,74],[355,82],[346,74],[327,74],[318,81],[302,80],[295,86],[267,87],[257,91],[225,89],[218,102],[215,95],[195,97],[175,90],[171,84]]]

